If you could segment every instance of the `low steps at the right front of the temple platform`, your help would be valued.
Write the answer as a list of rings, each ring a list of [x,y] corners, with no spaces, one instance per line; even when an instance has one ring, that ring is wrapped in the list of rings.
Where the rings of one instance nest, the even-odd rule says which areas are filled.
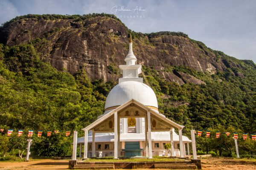
[[[195,164],[172,164],[172,163],[165,163],[165,164],[154,164],[155,169],[175,169],[175,170],[195,170]]]

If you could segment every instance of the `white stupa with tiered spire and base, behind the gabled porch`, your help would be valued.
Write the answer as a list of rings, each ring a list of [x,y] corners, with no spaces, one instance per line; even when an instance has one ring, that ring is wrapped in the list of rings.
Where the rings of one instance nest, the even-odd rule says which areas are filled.
[[[139,74],[141,73],[141,65],[136,65],[135,62],[137,61],[137,58],[135,57],[132,49],[132,40],[129,44],[129,52],[127,56],[125,57],[126,65],[119,65],[121,74],[123,75],[122,78],[119,78],[119,84],[117,84],[108,94],[108,97],[106,99],[105,103],[105,112],[101,116],[98,117],[99,119],[103,119],[104,116],[108,116],[108,114],[111,114],[115,110],[119,109],[121,106],[129,109],[129,105],[125,106],[126,103],[129,101],[136,101],[142,106],[146,106],[150,109],[150,111],[154,114],[157,114],[158,118],[159,116],[162,117],[160,119],[166,120],[167,122],[171,122],[173,125],[178,125],[175,122],[170,121],[169,119],[165,118],[163,114],[160,114],[158,111],[158,104],[157,104],[157,97],[154,93],[154,91],[146,84],[143,83],[143,78],[139,77]],[[139,105],[138,104],[138,105]],[[132,105],[132,104],[131,104]],[[128,112],[128,111],[126,111]],[[120,147],[119,151],[121,152],[120,156],[124,156],[125,153],[122,153],[122,149],[125,149],[126,142],[140,142],[140,148],[144,149],[144,151],[141,151],[141,156],[146,156],[146,150],[145,150],[145,118],[138,117],[137,111],[130,110],[130,114],[134,115],[134,118],[125,118],[126,115],[124,115],[122,118],[120,118],[119,124],[120,124]],[[152,119],[153,120],[153,119]],[[163,121],[163,122],[164,122]],[[110,121],[111,122],[111,121]],[[94,123],[94,122],[93,122]],[[167,150],[164,149],[163,145],[166,143],[171,143],[171,135],[173,135],[173,151],[172,156],[180,156],[180,151],[178,149],[178,144],[180,143],[179,135],[175,133],[174,128],[171,128],[170,130],[164,130],[164,131],[154,131],[154,128],[156,126],[157,122],[152,122],[152,130],[151,130],[151,146],[152,146],[152,155],[153,156],[163,156],[167,155]],[[158,124],[161,124],[161,122],[158,122]],[[96,123],[95,123],[96,125]],[[113,122],[112,122],[113,125]],[[90,126],[90,125],[89,125]],[[99,152],[102,151],[102,156],[114,156],[114,133],[111,131],[111,123],[109,124],[108,130],[111,132],[105,133],[107,130],[104,126],[108,126],[108,124],[102,124],[97,125],[98,127],[92,131],[89,131],[87,142],[88,142],[88,157],[92,156],[93,153],[94,156],[99,156]],[[162,125],[161,125],[162,126]],[[179,125],[180,127],[182,125]],[[93,124],[91,125],[93,127]],[[90,128],[86,127],[83,130]],[[102,130],[104,133],[99,133]],[[112,129],[113,130],[113,129]],[[97,133],[95,133],[97,131]],[[147,131],[146,131],[147,132]],[[94,133],[94,134],[93,134]],[[92,136],[95,135],[95,139],[93,142]],[[180,136],[181,137],[181,136]],[[78,139],[78,144],[80,144],[80,148],[82,148],[82,144],[84,144],[84,137],[81,137]],[[186,154],[186,146],[189,146],[189,143],[191,140],[189,140],[186,136],[182,136],[182,144],[183,144],[183,154],[184,156]],[[92,148],[94,147],[94,149]],[[189,150],[189,147],[187,147]],[[124,151],[123,151],[124,152]],[[188,152],[189,153],[189,152]],[[80,156],[81,156],[81,150],[80,150]],[[93,156],[92,156],[93,157]]]

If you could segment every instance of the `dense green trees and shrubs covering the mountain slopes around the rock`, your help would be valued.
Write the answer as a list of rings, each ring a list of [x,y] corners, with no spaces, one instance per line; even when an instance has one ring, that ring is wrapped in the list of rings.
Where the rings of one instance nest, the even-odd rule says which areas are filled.
[[[16,17],[3,26],[26,17],[31,16]],[[47,14],[32,17],[83,20],[83,17],[94,16]],[[145,35],[130,32],[133,37],[169,35],[187,38],[186,34],[174,32]],[[11,47],[0,44],[0,128],[5,129],[5,133],[7,129],[14,129],[12,136],[0,136],[0,156],[21,155],[26,146],[23,143],[17,145],[17,142],[27,139],[28,130],[34,130],[32,155],[70,156],[72,137],[66,137],[65,131],[76,129],[79,137],[83,136],[81,128],[103,113],[106,97],[117,84],[102,79],[91,81],[85,66],[75,75],[69,74],[64,68],[58,71],[39,57],[38,41],[31,40]],[[160,74],[161,71],[154,67],[143,66],[145,76],[142,77],[144,81],[147,79],[145,83],[157,94],[160,112],[184,125],[183,133],[186,136],[190,136],[190,129],[212,131],[209,139],[205,138],[205,131],[202,137],[197,137],[197,148],[201,152],[233,156],[235,147],[232,133],[237,132],[240,154],[255,155],[256,142],[250,140],[250,134],[256,133],[256,65],[252,61],[235,59],[221,51],[214,51],[202,42],[192,42],[195,48],[200,48],[206,54],[202,57],[213,53],[226,68],[216,69],[212,73],[188,66],[165,65],[163,71],[167,73],[188,74],[206,83],[178,85],[167,81]],[[109,65],[111,74],[119,74],[116,65]],[[16,137],[19,129],[24,130],[20,139]],[[41,138],[37,137],[38,130],[44,131]],[[52,131],[51,137],[46,136],[47,130]],[[55,134],[53,130],[61,130],[61,133]],[[219,139],[215,138],[216,131],[221,132]],[[231,135],[226,136],[225,131]],[[242,133],[248,133],[249,139],[243,141]]]

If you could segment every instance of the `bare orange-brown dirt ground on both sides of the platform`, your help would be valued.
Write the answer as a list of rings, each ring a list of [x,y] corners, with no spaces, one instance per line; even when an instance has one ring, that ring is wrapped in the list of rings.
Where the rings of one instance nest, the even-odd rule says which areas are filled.
[[[231,158],[201,159],[203,170],[256,170],[256,161]],[[41,159],[29,162],[0,162],[0,170],[67,170],[68,160]],[[148,169],[150,170],[150,169]],[[161,169],[163,170],[163,169]]]

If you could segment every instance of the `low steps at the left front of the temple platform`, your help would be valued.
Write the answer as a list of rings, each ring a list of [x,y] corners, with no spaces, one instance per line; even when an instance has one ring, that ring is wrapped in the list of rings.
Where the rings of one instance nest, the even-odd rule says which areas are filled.
[[[78,164],[74,165],[73,170],[106,170],[106,169],[115,169],[114,164],[110,164],[108,162],[78,162]]]

